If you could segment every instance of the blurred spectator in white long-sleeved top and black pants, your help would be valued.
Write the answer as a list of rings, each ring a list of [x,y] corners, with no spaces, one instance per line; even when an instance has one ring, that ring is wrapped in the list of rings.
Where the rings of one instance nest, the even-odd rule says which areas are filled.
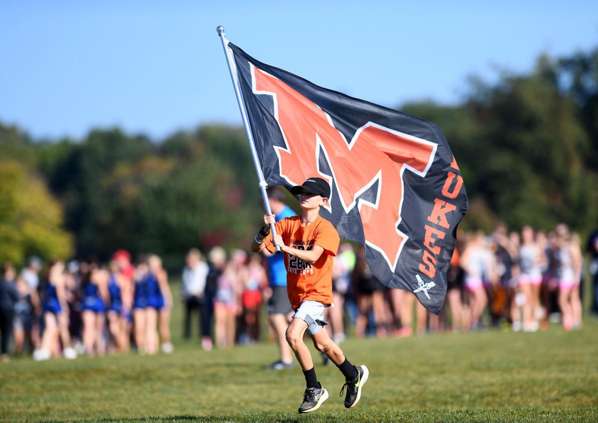
[[[211,349],[212,337],[210,336],[210,306],[207,304],[206,282],[210,268],[203,260],[199,249],[192,248],[185,257],[187,266],[182,274],[182,297],[185,301],[185,327],[183,336],[189,339],[191,336],[191,314],[194,311],[199,312],[198,330],[202,337],[202,346],[204,349]]]

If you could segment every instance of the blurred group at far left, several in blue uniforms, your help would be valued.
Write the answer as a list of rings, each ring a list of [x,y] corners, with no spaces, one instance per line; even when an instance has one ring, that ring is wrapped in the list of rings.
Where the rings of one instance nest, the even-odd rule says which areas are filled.
[[[27,348],[34,360],[126,352],[131,341],[140,354],[155,354],[160,345],[173,351],[172,294],[157,255],[133,266],[129,252],[120,250],[108,266],[56,260],[43,273],[42,267],[36,257],[21,272],[2,266],[2,360],[11,334],[14,354]]]

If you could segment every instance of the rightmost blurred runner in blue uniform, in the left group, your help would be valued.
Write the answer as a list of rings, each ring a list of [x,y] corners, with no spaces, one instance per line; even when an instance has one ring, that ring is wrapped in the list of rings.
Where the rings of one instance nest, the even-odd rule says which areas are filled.
[[[162,267],[162,260],[157,255],[148,257],[148,308],[147,317],[147,352],[155,354],[158,350],[157,326],[160,327],[160,341],[162,351],[170,353],[173,351],[170,343],[170,310],[172,309],[172,293],[168,284],[168,275]]]

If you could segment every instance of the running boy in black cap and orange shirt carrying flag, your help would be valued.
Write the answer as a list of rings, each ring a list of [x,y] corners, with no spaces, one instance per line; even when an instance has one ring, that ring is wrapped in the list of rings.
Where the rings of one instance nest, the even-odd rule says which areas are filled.
[[[286,340],[303,369],[307,388],[300,413],[317,410],[328,399],[328,391],[318,382],[312,355],[303,342],[307,331],[313,345],[336,364],[346,379],[340,395],[346,388],[344,406],[355,406],[361,397],[361,388],[368,379],[365,366],[353,366],[327,331],[321,330],[327,322],[322,312],[332,305],[332,263],[340,238],[334,226],[320,217],[322,206],[328,205],[330,186],[322,178],[309,178],[303,185],[292,187],[291,193],[299,196],[301,215],[276,222],[276,234],[270,235],[274,215],[264,216],[265,226],[255,235],[251,251],[266,248],[274,252],[276,246],[285,254],[287,294],[295,311],[286,329]]]

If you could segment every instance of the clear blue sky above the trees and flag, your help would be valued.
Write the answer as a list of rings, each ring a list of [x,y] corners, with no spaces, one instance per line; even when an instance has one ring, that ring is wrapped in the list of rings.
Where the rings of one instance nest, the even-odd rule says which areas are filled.
[[[159,141],[241,124],[215,28],[262,62],[385,106],[598,45],[598,2],[0,2],[0,121],[35,138],[120,126]]]

